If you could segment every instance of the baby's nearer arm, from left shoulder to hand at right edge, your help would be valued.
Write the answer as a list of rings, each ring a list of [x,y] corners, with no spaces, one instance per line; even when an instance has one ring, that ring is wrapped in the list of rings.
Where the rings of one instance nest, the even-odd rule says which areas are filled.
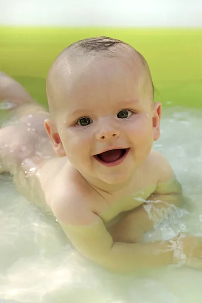
[[[84,199],[79,201],[69,197],[53,208],[66,235],[86,258],[115,272],[139,272],[176,262],[173,251],[178,247],[178,238],[147,244],[114,242],[103,220],[86,205]],[[180,245],[184,246],[183,252],[187,257],[190,256],[189,247],[193,241],[196,244],[191,256],[202,257],[202,243],[199,239],[181,239]]]

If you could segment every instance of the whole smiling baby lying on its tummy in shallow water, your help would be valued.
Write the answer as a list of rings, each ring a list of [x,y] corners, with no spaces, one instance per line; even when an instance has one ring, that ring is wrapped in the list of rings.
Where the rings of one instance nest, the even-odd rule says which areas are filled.
[[[117,39],[84,39],[57,57],[46,92],[49,113],[0,74],[0,100],[10,112],[0,129],[0,171],[51,211],[98,265],[116,272],[202,268],[201,237],[142,241],[182,200],[169,163],[151,150],[161,104],[145,59]]]

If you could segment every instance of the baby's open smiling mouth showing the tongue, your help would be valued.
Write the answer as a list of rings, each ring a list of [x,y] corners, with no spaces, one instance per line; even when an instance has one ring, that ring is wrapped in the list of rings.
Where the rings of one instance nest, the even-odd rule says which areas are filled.
[[[125,159],[126,155],[128,154],[130,148],[117,148],[107,150],[104,153],[97,154],[94,157],[99,162],[102,162],[105,165],[114,165],[119,164],[122,160]]]

